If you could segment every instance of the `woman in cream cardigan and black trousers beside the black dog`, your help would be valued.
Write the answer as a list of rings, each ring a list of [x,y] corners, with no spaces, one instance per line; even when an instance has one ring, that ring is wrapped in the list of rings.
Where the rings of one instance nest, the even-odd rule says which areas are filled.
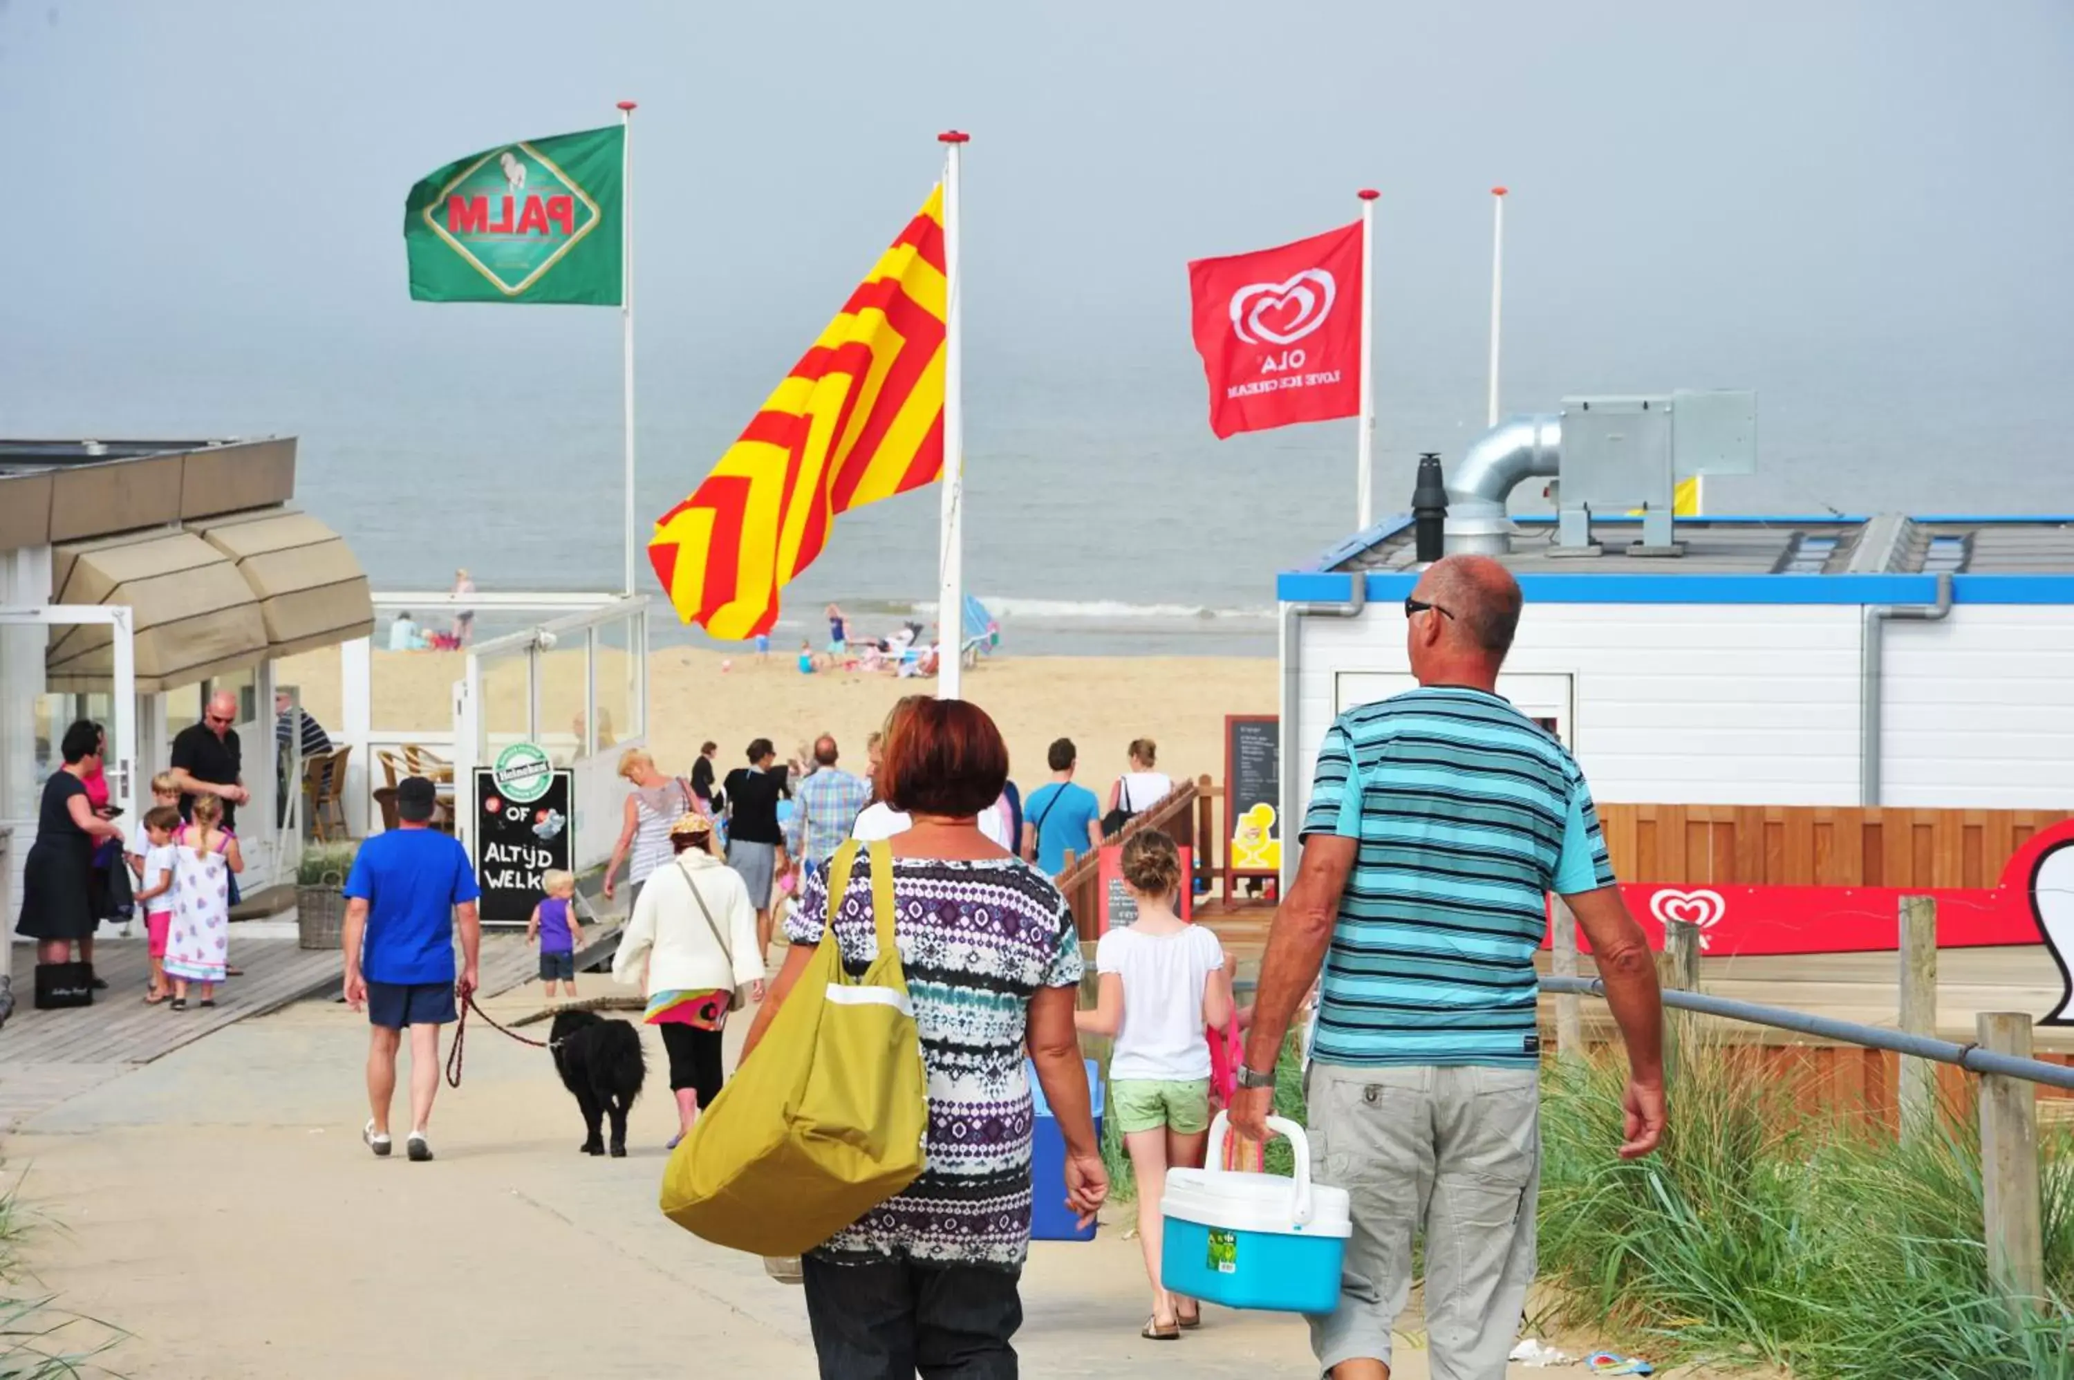
[[[612,959],[612,979],[633,982],[647,967],[647,1023],[662,1027],[670,1052],[670,1092],[678,1131],[691,1133],[720,1096],[720,1031],[738,988],[763,1000],[763,955],[749,888],[713,849],[713,822],[686,813],[670,826],[676,857],[657,865],[635,901],[635,915]]]

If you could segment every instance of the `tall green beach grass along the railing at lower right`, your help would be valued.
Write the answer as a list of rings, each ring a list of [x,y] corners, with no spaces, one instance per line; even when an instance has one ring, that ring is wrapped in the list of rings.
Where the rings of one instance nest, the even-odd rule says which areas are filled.
[[[2074,1378],[2074,1139],[2041,1135],[2045,1272],[2014,1309],[1987,1276],[1968,1108],[1898,1141],[1800,1112],[1734,1046],[1694,1048],[1663,1148],[1622,1162],[1626,1062],[1549,1062],[1541,1282],[1551,1320],[1653,1361],[1802,1380]]]

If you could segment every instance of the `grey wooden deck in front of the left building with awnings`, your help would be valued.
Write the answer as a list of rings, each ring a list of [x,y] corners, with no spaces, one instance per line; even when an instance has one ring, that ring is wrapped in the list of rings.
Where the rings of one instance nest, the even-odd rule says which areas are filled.
[[[292,938],[239,938],[236,930],[230,938],[245,975],[218,988],[216,1009],[180,1013],[143,1002],[149,955],[141,938],[95,944],[95,969],[108,990],[91,1006],[73,1011],[35,1011],[35,946],[10,944],[15,1015],[0,1029],[0,1131],[247,1017],[338,996],[336,948],[301,948]],[[537,953],[523,936],[483,936],[485,996],[508,992],[537,971]]]

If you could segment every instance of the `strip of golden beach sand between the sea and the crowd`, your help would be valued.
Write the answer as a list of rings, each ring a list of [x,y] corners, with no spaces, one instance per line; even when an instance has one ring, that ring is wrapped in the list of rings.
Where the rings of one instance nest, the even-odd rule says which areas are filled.
[[[454,652],[375,652],[373,726],[377,737],[450,730],[452,683],[465,658]],[[583,652],[543,654],[541,737],[568,741],[583,712]],[[597,703],[612,726],[630,722],[624,687],[608,685],[612,650],[599,658]],[[525,662],[494,662],[483,677],[489,733],[523,733]],[[338,733],[338,650],[286,658],[282,685],[301,689],[303,706]],[[666,772],[689,774],[699,743],[720,743],[722,772],[745,762],[751,739],[767,737],[780,757],[832,733],[842,766],[863,770],[865,735],[902,695],[933,693],[935,681],[823,670],[801,674],[796,652],[722,656],[664,647],[649,656],[649,745]],[[1081,749],[1081,780],[1108,795],[1126,770],[1132,739],[1159,745],[1159,770],[1176,780],[1224,778],[1224,716],[1276,712],[1276,662],[1267,658],[1072,658],[985,660],[964,672],[964,697],[987,710],[1008,739],[1010,770],[1022,791],[1049,776],[1045,749],[1068,737]]]

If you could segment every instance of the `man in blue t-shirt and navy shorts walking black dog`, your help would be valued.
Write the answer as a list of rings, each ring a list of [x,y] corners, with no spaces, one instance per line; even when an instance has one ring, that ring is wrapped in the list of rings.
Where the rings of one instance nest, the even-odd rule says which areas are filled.
[[[388,1108],[396,1094],[396,1050],[411,1027],[413,1160],[429,1160],[425,1123],[440,1092],[440,1027],[454,1019],[454,998],[475,992],[475,961],[483,928],[475,915],[475,870],[452,834],[431,828],[440,803],[423,776],[396,784],[398,828],[361,845],[346,878],[346,1002],[367,1006],[373,1038],[367,1052],[367,1106],[373,1116],[361,1139],[377,1156],[390,1152]],[[463,967],[454,973],[454,930]]]

